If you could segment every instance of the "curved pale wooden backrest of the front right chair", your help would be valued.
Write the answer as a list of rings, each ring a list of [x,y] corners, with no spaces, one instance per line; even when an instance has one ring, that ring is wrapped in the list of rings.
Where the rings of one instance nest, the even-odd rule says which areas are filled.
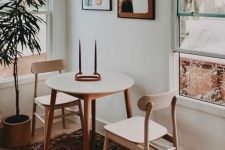
[[[152,110],[160,110],[171,106],[173,98],[175,98],[175,91],[160,93],[155,95],[143,96],[138,100],[138,107],[142,111],[146,111],[148,104],[153,104]]]

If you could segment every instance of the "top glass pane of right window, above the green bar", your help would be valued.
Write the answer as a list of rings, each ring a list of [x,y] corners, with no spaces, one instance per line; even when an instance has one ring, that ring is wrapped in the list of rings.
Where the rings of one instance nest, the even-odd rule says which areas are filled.
[[[179,13],[225,13],[225,0],[178,0]]]

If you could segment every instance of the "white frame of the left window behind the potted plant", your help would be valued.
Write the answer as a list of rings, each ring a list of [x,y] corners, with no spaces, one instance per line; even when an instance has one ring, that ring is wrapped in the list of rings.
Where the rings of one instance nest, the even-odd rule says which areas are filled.
[[[45,14],[46,15],[46,55],[47,60],[52,59],[52,0],[46,0],[46,10],[40,11],[30,11],[32,14]],[[43,75],[42,79],[46,79],[48,75]],[[33,75],[20,75],[19,77],[20,85],[28,84],[33,82]],[[9,88],[14,86],[13,77],[0,80],[0,90],[4,88]]]

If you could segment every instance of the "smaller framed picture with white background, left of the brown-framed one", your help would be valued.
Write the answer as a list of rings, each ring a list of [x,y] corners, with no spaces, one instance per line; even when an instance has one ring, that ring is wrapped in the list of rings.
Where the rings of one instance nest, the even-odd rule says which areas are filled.
[[[112,0],[82,0],[83,10],[112,10]]]

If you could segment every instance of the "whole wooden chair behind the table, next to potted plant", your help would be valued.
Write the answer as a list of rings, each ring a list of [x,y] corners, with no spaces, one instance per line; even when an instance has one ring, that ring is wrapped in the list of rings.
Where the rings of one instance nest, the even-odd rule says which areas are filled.
[[[38,75],[40,73],[47,73],[47,72],[54,72],[54,71],[61,71],[64,69],[63,60],[52,60],[52,61],[43,61],[43,62],[35,62],[31,65],[31,72],[35,74],[35,84],[34,84],[34,100],[33,100],[33,117],[32,117],[32,136],[35,134],[35,124],[36,124],[36,117],[40,119],[43,123],[47,122],[48,120],[48,112],[50,107],[50,98],[51,95],[45,96],[37,96],[38,92]],[[37,106],[43,109],[43,114],[37,113]],[[78,106],[78,111],[74,111],[69,109],[68,107]],[[81,107],[80,99],[70,96],[65,93],[58,92],[56,97],[56,103],[54,109],[61,109],[62,114],[54,116],[53,119],[62,118],[62,127],[65,128],[65,117],[71,115],[78,115],[80,116],[81,126],[83,127],[83,112]],[[65,111],[66,110],[66,111]],[[67,113],[66,113],[67,112]],[[44,116],[44,119],[43,119]]]

